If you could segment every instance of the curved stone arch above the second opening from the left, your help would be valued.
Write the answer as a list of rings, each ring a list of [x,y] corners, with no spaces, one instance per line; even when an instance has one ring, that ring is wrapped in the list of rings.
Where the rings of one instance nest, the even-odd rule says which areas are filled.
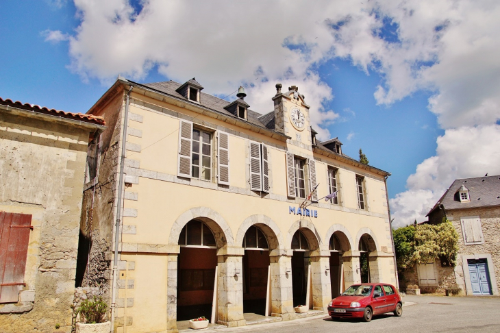
[[[285,248],[283,235],[279,230],[278,225],[275,221],[271,220],[270,217],[267,217],[264,214],[253,214],[241,223],[238,233],[236,234],[236,246],[242,245],[245,232],[247,232],[248,228],[252,225],[260,227],[260,230],[264,232],[270,250]]]

